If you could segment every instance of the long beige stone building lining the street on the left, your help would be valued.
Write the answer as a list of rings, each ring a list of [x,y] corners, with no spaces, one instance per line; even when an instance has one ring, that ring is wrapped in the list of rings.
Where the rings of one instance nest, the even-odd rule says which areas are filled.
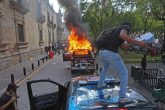
[[[0,0],[0,70],[57,42],[56,15],[49,0]]]

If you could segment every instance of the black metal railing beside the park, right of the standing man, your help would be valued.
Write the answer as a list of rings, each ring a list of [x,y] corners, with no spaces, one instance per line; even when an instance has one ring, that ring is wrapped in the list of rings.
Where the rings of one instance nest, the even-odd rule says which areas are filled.
[[[132,66],[131,76],[151,90],[165,89],[165,74],[157,68],[142,70]]]

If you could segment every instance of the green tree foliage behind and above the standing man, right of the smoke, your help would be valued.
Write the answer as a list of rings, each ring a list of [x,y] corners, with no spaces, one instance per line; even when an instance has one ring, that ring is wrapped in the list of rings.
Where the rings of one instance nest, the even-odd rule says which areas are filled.
[[[82,0],[80,8],[94,39],[105,28],[119,26],[123,21],[132,24],[132,32],[161,35],[165,30],[164,0]]]

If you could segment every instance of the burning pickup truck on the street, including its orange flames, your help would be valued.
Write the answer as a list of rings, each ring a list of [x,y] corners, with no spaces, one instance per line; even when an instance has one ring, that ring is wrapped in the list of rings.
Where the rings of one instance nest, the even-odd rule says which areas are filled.
[[[93,46],[85,33],[79,34],[76,28],[72,28],[68,37],[67,52],[63,53],[63,61],[71,61],[71,73],[76,71],[95,70],[95,58]]]

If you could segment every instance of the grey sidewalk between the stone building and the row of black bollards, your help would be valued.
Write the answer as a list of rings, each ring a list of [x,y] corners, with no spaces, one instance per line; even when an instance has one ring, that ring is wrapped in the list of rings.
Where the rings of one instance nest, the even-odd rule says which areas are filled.
[[[21,79],[22,77],[24,77],[25,75],[25,71],[26,70],[26,75],[31,73],[32,70],[32,64],[34,66],[34,70],[39,67],[38,66],[38,61],[39,64],[42,65],[42,58],[45,58],[47,56],[46,53],[43,53],[37,57],[31,58],[29,60],[26,60],[22,63],[19,63],[9,69],[0,71],[0,94],[3,91],[3,89],[11,82],[11,74],[14,75],[15,81]],[[46,59],[44,59],[44,63],[46,62]],[[25,68],[23,70],[23,68]]]

